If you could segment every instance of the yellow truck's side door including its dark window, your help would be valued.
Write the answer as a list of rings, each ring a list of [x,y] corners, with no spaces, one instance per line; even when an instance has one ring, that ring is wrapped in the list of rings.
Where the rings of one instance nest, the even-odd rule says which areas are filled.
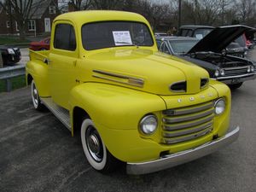
[[[59,20],[53,33],[49,53],[49,90],[56,104],[69,109],[69,93],[76,84],[77,37],[73,24],[67,21]]]

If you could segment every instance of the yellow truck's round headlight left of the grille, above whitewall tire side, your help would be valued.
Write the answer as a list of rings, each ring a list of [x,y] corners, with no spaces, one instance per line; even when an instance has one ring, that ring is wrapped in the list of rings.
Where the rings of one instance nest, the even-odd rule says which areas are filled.
[[[149,114],[140,122],[140,129],[146,135],[151,135],[157,128],[157,119],[153,114]]]

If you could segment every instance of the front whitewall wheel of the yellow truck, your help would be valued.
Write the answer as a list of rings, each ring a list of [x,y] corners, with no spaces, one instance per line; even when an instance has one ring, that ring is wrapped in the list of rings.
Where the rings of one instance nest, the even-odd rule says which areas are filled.
[[[82,123],[81,141],[90,166],[99,172],[113,172],[117,168],[119,160],[108,152],[91,119],[84,119]]]

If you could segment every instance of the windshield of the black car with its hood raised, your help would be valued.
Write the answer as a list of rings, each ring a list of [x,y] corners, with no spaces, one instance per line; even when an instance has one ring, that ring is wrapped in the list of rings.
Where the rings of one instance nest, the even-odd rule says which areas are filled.
[[[172,50],[176,54],[187,53],[192,47],[197,44],[197,40],[177,40],[169,41],[171,44]]]

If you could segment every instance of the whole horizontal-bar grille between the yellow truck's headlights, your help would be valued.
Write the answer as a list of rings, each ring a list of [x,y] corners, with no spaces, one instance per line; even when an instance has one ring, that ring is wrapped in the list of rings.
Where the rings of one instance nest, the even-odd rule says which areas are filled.
[[[214,103],[168,109],[162,116],[162,143],[185,142],[212,131]]]

